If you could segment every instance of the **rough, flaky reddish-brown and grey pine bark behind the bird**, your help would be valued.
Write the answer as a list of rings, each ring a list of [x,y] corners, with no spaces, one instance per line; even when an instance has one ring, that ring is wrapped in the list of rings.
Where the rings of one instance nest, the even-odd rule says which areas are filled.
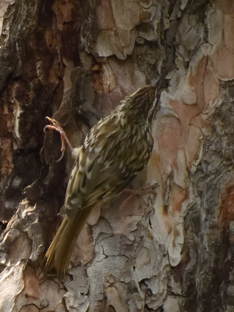
[[[0,2],[0,306],[4,312],[234,311],[234,1]],[[96,207],[59,285],[41,263],[72,145],[158,85],[138,189]],[[137,122],[137,120],[136,120]]]

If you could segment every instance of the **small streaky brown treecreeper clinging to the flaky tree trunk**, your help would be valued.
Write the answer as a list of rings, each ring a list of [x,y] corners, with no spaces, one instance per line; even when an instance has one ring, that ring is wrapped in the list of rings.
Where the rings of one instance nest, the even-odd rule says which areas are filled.
[[[60,282],[64,279],[76,239],[92,208],[122,192],[148,163],[154,144],[156,94],[156,88],[147,85],[126,96],[90,129],[76,150],[60,211],[64,219],[44,257],[46,275],[56,276]],[[48,119],[54,123],[46,127],[61,132],[59,124]]]

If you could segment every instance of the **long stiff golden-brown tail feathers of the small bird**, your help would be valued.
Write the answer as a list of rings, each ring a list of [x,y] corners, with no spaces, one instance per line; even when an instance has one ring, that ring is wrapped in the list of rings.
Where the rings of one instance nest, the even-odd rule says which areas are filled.
[[[47,275],[57,276],[60,281],[64,278],[76,238],[84,227],[90,210],[88,207],[78,211],[71,219],[64,218],[44,258]]]

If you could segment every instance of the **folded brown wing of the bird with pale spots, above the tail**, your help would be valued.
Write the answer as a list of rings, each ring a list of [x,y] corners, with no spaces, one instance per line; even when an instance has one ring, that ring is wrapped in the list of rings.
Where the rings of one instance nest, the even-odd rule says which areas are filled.
[[[99,156],[98,156],[99,155]],[[69,179],[63,215],[71,218],[78,210],[95,204],[125,185],[123,169],[109,164],[99,153],[80,151]]]

